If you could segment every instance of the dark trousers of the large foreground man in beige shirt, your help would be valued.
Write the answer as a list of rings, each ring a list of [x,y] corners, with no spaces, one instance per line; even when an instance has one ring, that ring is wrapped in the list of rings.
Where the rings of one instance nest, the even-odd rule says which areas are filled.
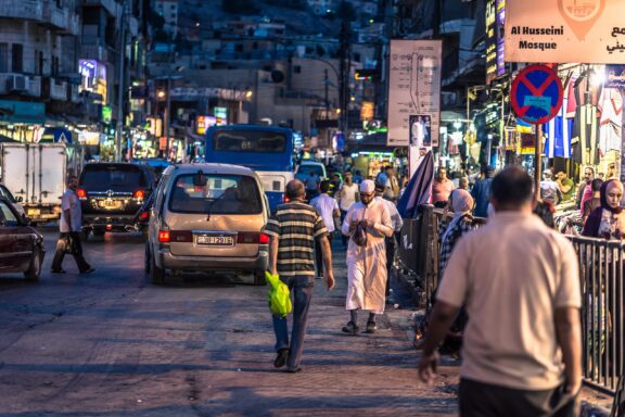
[[[460,379],[461,417],[576,417],[577,394],[553,390],[530,391]]]

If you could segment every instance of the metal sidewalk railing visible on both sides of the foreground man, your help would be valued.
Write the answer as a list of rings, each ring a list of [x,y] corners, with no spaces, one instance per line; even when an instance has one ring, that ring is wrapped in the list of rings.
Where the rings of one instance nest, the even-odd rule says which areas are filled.
[[[443,211],[419,207],[406,219],[397,255],[399,267],[416,276],[422,307],[432,306],[438,285],[438,220]],[[476,218],[477,226],[485,219]],[[569,237],[577,253],[582,285],[583,370],[586,383],[610,394],[625,365],[625,243]]]

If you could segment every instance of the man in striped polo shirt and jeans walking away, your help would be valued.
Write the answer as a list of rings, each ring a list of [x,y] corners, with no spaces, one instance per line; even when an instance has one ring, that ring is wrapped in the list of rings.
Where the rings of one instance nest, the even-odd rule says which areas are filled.
[[[269,271],[280,275],[280,279],[289,286],[294,299],[291,343],[289,343],[286,318],[273,316],[278,353],[273,366],[280,368],[286,365],[286,371],[297,372],[302,370],[299,363],[315,282],[315,240],[321,245],[328,290],[334,288],[334,275],[330,241],[326,238],[328,230],[323,218],[304,202],[306,199],[304,184],[297,179],[289,181],[285,191],[290,202],[278,206],[265,228],[265,232],[271,237]]]

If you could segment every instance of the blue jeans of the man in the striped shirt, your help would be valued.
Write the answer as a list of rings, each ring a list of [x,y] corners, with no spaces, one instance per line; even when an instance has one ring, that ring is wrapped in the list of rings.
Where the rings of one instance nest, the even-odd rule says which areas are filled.
[[[290,349],[289,368],[296,368],[302,361],[304,352],[304,337],[308,327],[308,308],[312,296],[315,277],[307,275],[296,275],[293,277],[281,276],[280,279],[293,294],[293,329],[291,331],[291,343],[289,343],[289,323],[286,317],[273,317],[273,331],[276,333],[276,351]]]

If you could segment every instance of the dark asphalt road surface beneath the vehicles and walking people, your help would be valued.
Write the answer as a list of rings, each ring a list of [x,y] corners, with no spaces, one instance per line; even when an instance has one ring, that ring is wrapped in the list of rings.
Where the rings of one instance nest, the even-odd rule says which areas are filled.
[[[408,302],[391,307],[375,334],[341,333],[348,317],[339,242],[337,288],[317,281],[304,371],[292,375],[272,367],[267,289],[245,283],[251,276],[152,286],[141,237],[130,233],[85,244],[94,274],[78,275],[67,257],[68,273],[51,275],[56,233],[43,232],[41,280],[0,276],[0,416],[455,414],[456,364],[433,387],[418,382]]]

